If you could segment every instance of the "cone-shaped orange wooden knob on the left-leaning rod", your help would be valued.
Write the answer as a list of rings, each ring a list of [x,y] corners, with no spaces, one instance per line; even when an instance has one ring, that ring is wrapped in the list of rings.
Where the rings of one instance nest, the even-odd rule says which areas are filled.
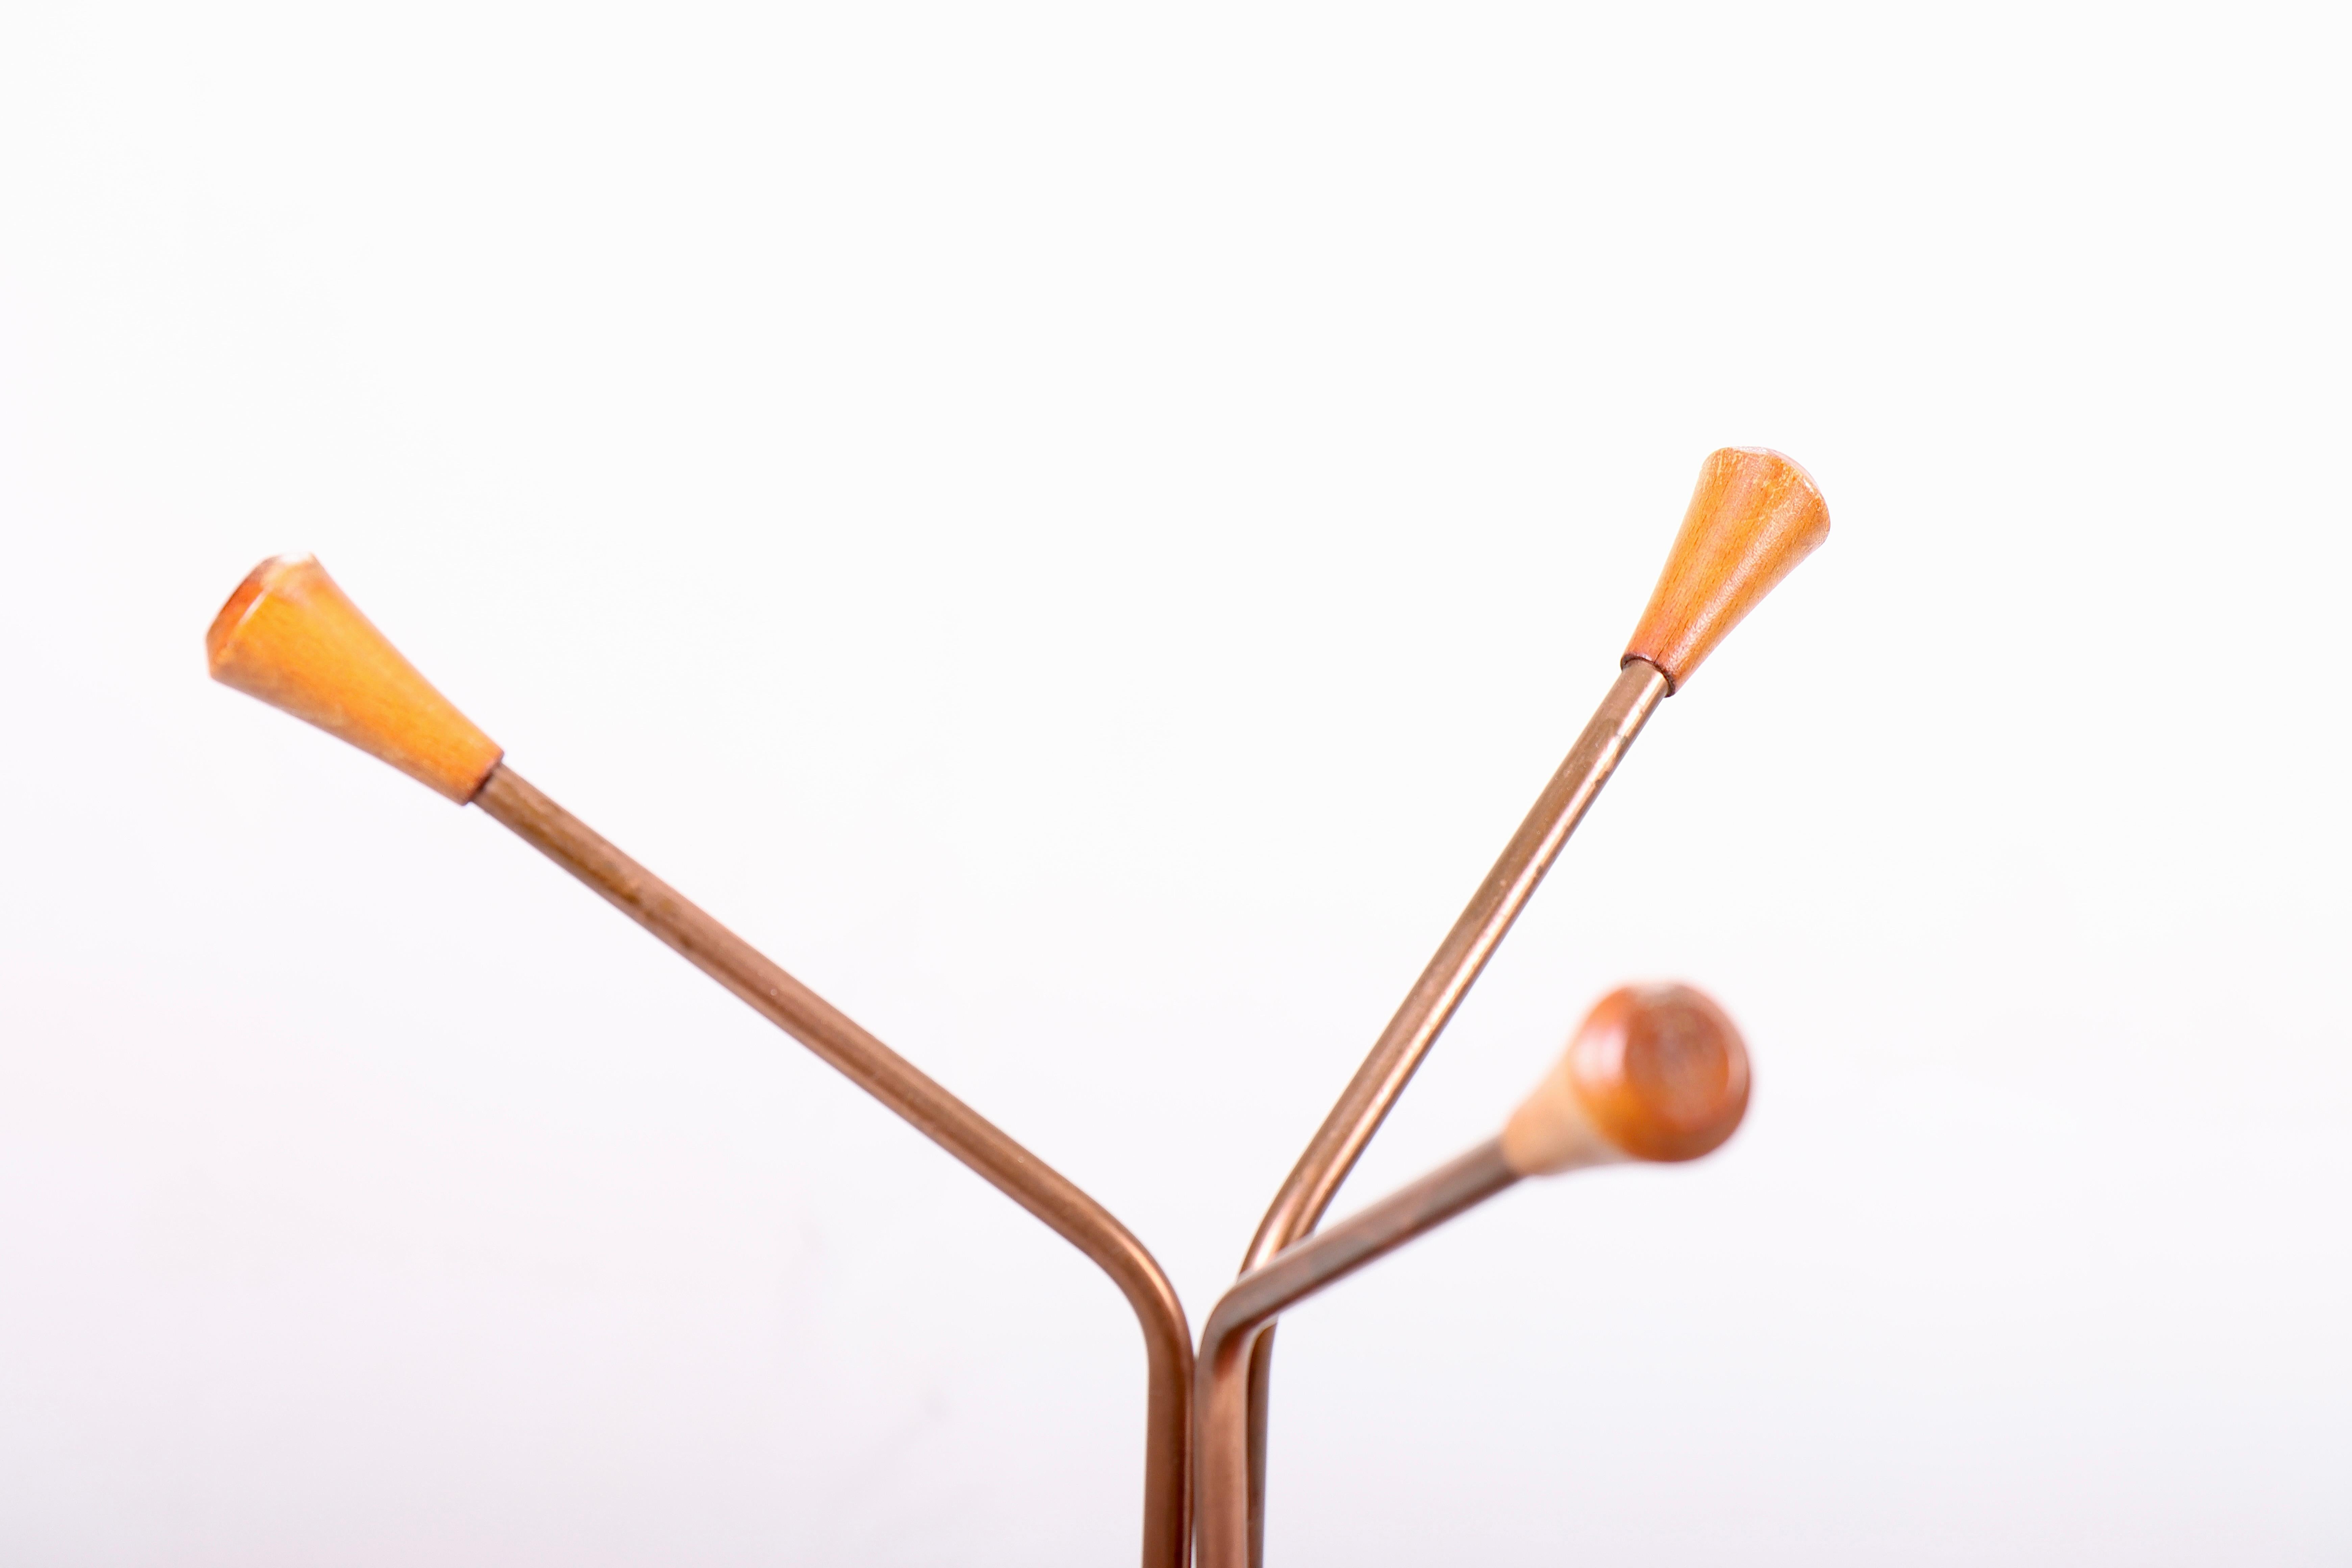
[[[350,741],[461,806],[499,766],[499,745],[308,555],[254,567],[205,632],[205,656],[223,686]]]

